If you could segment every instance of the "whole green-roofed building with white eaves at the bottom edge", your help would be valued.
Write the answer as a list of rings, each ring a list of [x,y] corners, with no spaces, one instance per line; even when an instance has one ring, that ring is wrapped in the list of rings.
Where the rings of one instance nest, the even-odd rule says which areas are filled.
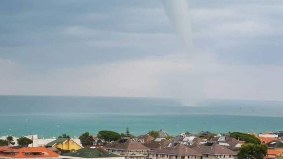
[[[101,147],[82,148],[60,156],[61,159],[125,159],[125,157],[108,153]]]

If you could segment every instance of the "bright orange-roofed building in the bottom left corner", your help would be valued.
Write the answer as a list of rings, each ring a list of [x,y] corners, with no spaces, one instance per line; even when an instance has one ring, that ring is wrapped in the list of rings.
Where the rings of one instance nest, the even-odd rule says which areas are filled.
[[[59,159],[59,156],[45,147],[3,146],[0,147],[0,158]]]

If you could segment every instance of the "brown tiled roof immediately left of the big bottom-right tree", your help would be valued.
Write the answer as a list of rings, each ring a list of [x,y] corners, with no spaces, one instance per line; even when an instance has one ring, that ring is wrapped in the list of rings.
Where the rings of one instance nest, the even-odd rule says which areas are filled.
[[[216,143],[206,143],[193,148],[203,154],[237,154],[236,152]]]

